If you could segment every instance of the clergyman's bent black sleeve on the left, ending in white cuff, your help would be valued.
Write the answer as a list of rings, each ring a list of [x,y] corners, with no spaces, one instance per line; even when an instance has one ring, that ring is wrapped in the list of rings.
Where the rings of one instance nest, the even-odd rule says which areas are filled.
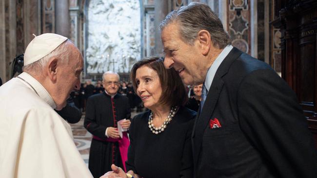
[[[100,139],[106,139],[106,126],[99,125],[96,122],[96,105],[94,98],[89,97],[86,105],[86,115],[84,121],[84,127],[93,135]]]

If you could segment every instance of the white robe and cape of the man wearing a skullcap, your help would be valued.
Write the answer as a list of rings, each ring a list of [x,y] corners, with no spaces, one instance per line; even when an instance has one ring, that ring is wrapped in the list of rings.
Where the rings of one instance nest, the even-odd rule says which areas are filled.
[[[46,89],[19,77],[0,87],[0,178],[92,178]]]

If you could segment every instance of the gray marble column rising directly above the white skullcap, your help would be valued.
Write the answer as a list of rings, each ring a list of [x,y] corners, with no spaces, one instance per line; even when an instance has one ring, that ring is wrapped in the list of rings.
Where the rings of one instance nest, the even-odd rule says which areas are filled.
[[[55,2],[56,33],[70,37],[69,2],[68,0],[56,0]]]

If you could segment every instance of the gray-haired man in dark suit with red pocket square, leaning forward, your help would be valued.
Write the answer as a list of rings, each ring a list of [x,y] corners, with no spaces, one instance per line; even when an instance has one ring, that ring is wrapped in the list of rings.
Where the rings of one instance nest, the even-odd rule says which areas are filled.
[[[165,67],[186,85],[204,84],[192,135],[196,178],[317,178],[295,93],[269,65],[231,46],[209,6],[181,7],[160,29]]]

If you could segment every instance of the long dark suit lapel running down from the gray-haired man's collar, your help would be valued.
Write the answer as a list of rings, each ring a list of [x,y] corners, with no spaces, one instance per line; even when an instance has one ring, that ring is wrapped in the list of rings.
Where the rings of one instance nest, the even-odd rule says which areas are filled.
[[[198,109],[198,115],[196,117],[192,133],[193,156],[195,165],[197,165],[203,133],[205,131],[206,126],[208,126],[209,120],[214,112],[214,109],[219,98],[219,94],[224,84],[221,77],[228,72],[231,64],[241,55],[241,53],[241,51],[234,47],[231,50],[231,52],[226,56],[226,58],[222,61],[215,74],[214,80],[210,86],[201,113],[199,112],[201,106]]]

